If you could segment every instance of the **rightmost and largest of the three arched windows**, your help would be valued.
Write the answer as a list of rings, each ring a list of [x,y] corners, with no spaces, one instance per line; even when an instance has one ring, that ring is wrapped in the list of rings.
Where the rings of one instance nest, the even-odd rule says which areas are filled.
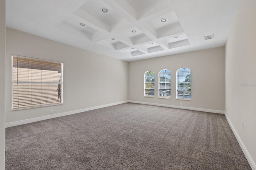
[[[177,99],[191,99],[191,70],[177,70]]]

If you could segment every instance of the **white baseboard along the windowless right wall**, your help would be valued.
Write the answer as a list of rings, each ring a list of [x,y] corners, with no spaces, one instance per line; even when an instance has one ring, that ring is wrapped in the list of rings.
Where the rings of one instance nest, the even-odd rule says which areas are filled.
[[[236,136],[236,139],[240,145],[240,147],[242,148],[244,155],[246,157],[246,159],[248,160],[252,170],[256,170],[256,164],[254,162],[254,160],[252,159],[252,156],[250,155],[250,153],[248,152],[247,148],[244,145],[244,142],[242,141],[242,139],[240,138],[240,136],[238,135],[238,133],[236,132],[236,129],[234,128],[233,124],[231,123],[230,119],[228,118],[228,115],[225,113],[226,119],[228,121],[228,124],[230,125],[234,135]]]

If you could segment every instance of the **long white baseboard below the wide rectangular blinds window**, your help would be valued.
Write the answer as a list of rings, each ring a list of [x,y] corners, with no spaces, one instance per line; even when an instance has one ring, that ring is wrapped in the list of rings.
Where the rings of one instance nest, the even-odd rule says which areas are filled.
[[[5,127],[8,128],[8,127],[13,127],[13,126],[17,126],[17,125],[23,125],[23,124],[32,123],[32,122],[43,121],[43,120],[46,120],[46,119],[52,119],[52,118],[56,118],[56,117],[72,115],[72,114],[81,113],[81,112],[85,112],[85,111],[90,111],[90,110],[94,110],[94,109],[100,109],[100,108],[103,108],[103,107],[119,105],[119,104],[127,103],[127,102],[128,101],[121,101],[121,102],[117,102],[117,103],[110,103],[110,104],[107,104],[107,105],[89,107],[89,108],[86,108],[86,109],[80,109],[80,110],[76,110],[76,111],[69,111],[69,112],[58,113],[58,114],[54,114],[54,115],[47,115],[47,116],[36,117],[36,118],[32,118],[32,119],[25,119],[25,120],[22,120],[22,121],[10,122],[10,123],[6,123]]]

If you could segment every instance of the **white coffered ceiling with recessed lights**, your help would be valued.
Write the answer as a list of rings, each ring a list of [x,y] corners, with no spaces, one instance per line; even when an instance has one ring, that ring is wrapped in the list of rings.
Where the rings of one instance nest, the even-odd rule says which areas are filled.
[[[135,61],[224,46],[241,3],[242,0],[6,0],[6,26]]]

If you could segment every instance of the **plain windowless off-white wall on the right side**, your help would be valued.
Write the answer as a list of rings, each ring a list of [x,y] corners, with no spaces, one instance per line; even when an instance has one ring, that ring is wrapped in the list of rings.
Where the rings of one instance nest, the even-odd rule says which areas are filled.
[[[256,169],[256,0],[242,2],[226,43],[225,67],[226,115]]]

